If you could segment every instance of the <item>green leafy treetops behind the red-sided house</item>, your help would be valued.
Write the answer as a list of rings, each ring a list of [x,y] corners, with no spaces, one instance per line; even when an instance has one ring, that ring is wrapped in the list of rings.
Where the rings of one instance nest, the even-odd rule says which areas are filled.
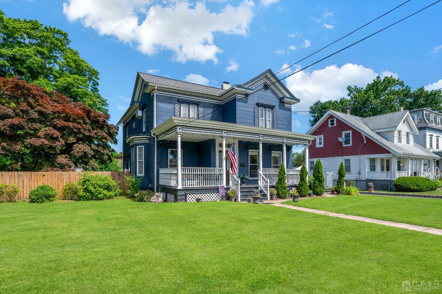
[[[429,108],[442,111],[442,91],[427,91],[423,87],[414,91],[398,78],[377,76],[365,87],[348,86],[347,97],[340,100],[316,101],[310,107],[309,120],[313,126],[329,110],[343,112],[351,108],[351,114],[370,117],[396,112],[402,106],[405,110]]]

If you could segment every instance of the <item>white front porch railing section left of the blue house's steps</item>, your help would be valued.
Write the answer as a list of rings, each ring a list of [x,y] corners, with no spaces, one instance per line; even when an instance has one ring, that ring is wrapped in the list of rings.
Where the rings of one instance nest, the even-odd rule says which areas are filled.
[[[215,187],[222,185],[222,168],[219,167],[182,167],[181,186]]]

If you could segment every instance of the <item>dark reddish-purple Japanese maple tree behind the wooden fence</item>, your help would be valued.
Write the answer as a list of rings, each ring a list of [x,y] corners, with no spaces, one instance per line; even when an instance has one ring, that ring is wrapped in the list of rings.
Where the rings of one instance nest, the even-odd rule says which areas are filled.
[[[0,156],[10,170],[96,169],[117,143],[109,119],[60,93],[0,77]]]

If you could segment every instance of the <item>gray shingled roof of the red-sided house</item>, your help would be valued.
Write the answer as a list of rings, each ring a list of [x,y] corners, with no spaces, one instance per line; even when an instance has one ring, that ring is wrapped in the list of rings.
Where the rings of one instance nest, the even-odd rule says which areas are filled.
[[[370,137],[374,138],[375,140],[379,141],[383,145],[387,146],[389,149],[392,149],[396,153],[399,153],[402,155],[408,155],[408,156],[414,155],[414,156],[426,156],[426,157],[432,157],[432,158],[439,157],[439,156],[435,155],[434,153],[432,153],[431,151],[423,148],[421,145],[419,145],[417,143],[414,143],[413,146],[394,144],[392,141],[382,137],[380,134],[377,134],[376,132],[371,130],[371,128],[368,127],[365,123],[366,119],[362,119],[358,116],[354,116],[354,115],[350,115],[350,114],[344,114],[342,112],[335,112],[333,110],[331,110],[331,112],[333,113],[333,115],[336,115],[340,119],[352,124],[354,127],[358,128],[359,130],[362,130],[362,132],[366,133]],[[395,112],[393,112],[393,113],[395,113]],[[392,113],[390,113],[390,114],[392,114]],[[374,117],[376,118],[377,116],[374,116]],[[373,118],[373,116],[371,118]],[[397,127],[397,125],[396,125],[396,127]]]

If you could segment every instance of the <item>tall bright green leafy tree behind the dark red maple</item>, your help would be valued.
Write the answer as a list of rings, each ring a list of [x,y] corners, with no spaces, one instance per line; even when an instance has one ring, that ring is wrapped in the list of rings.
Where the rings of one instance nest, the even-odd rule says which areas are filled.
[[[68,34],[37,20],[7,18],[0,10],[0,76],[13,76],[107,113],[99,72],[69,47]]]

